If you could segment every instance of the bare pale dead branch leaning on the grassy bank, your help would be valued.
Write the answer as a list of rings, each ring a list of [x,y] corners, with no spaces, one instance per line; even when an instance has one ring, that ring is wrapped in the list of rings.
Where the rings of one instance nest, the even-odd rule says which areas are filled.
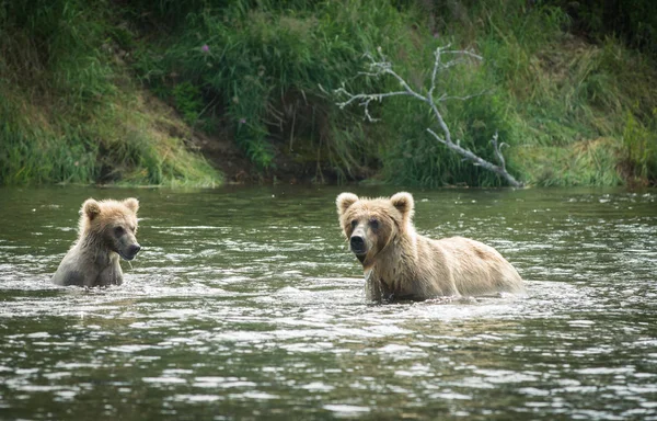
[[[488,162],[485,159],[474,155],[472,151],[461,147],[460,140],[457,140],[456,143],[452,140],[451,132],[449,130],[449,126],[442,118],[442,114],[440,113],[440,110],[438,110],[437,103],[441,103],[441,102],[449,101],[449,100],[466,101],[471,98],[481,95],[484,92],[480,92],[480,93],[472,94],[472,95],[465,95],[465,96],[450,96],[447,93],[442,93],[440,96],[435,99],[434,91],[436,90],[436,79],[438,78],[438,75],[440,73],[440,71],[447,70],[447,69],[449,69],[453,66],[457,66],[461,62],[465,62],[468,57],[474,58],[477,60],[483,60],[483,58],[472,52],[469,52],[469,50],[453,50],[453,49],[448,49],[448,48],[449,48],[449,45],[447,45],[445,47],[438,47],[438,48],[436,48],[436,52],[434,53],[435,59],[434,59],[434,68],[431,71],[431,82],[430,82],[431,84],[430,84],[429,89],[427,90],[426,95],[423,95],[423,94],[418,93],[417,91],[415,91],[413,88],[411,88],[411,86],[408,86],[408,83],[404,80],[404,78],[402,78],[396,71],[394,71],[392,69],[392,64],[385,59],[385,57],[381,53],[380,47],[377,49],[377,54],[379,56],[378,58],[372,56],[371,54],[366,54],[366,57],[370,60],[370,62],[368,65],[369,71],[361,72],[360,75],[365,75],[365,76],[369,76],[369,77],[373,77],[373,78],[390,76],[397,80],[397,82],[400,83],[402,89],[399,91],[382,92],[382,93],[351,93],[351,92],[347,91],[343,84],[342,88],[338,88],[335,90],[335,94],[344,96],[344,98],[346,98],[346,100],[343,102],[338,102],[337,105],[341,109],[344,109],[347,105],[357,103],[359,106],[362,106],[365,117],[369,122],[376,122],[377,118],[372,117],[372,115],[369,112],[369,105],[372,101],[381,102],[387,98],[400,96],[400,95],[411,96],[415,100],[422,101],[429,106],[429,109],[431,110],[431,112],[434,114],[434,117],[436,118],[436,121],[438,122],[438,125],[440,126],[440,130],[442,132],[442,136],[440,136],[436,132],[434,132],[430,127],[427,127],[427,132],[431,136],[434,136],[434,138],[436,140],[440,141],[441,144],[443,144],[445,146],[447,146],[449,149],[453,150],[454,152],[461,155],[465,160],[472,161],[473,164],[480,166],[482,168],[485,168],[486,170],[495,172],[496,174],[498,174],[499,177],[505,179],[510,185],[512,185],[515,187],[521,187],[523,184],[521,182],[519,182],[518,180],[516,180],[514,178],[514,175],[509,174],[508,171],[506,170],[506,162],[505,162],[504,156],[502,153],[502,147],[508,146],[508,145],[505,143],[502,143],[502,144],[498,143],[497,133],[495,133],[495,135],[493,136],[491,144],[493,145],[493,150],[495,152],[495,157],[497,158],[497,161],[499,163],[498,166],[496,166],[492,162]],[[442,57],[446,55],[451,55],[454,58],[443,62]]]

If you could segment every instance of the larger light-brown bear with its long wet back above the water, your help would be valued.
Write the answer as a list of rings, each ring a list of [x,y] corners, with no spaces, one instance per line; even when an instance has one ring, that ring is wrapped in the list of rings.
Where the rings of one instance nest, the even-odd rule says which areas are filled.
[[[522,293],[516,269],[495,249],[462,237],[433,240],[415,231],[413,196],[337,196],[349,248],[362,263],[368,299],[424,300],[441,296]]]

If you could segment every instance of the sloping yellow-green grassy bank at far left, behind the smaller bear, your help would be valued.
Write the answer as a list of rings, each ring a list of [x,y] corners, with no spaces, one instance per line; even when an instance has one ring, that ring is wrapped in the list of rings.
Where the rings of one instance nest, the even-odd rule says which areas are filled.
[[[0,184],[221,182],[128,71],[108,4],[0,4]]]

